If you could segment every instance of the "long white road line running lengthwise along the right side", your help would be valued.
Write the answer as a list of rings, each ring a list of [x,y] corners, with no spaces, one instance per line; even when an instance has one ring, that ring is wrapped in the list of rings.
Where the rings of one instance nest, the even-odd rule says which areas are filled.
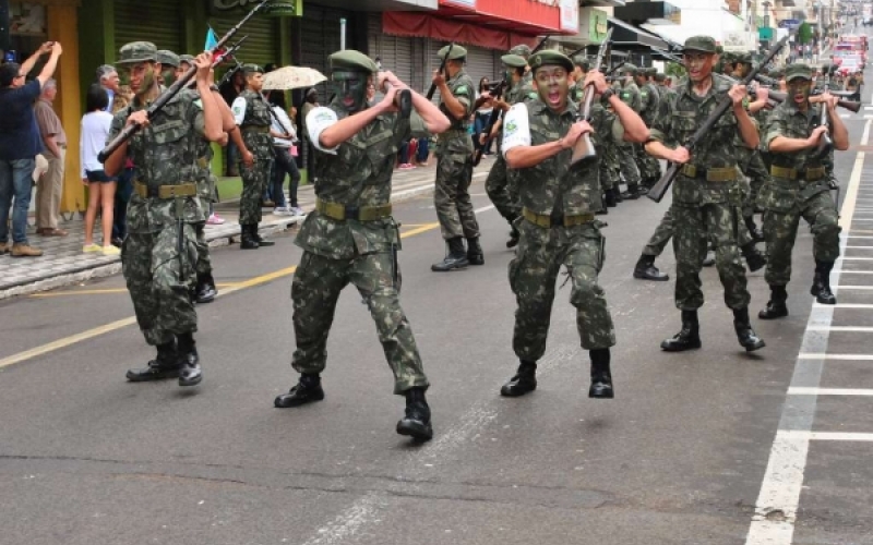
[[[864,116],[873,119],[873,116]],[[861,146],[870,142],[870,126],[873,121],[864,123]],[[866,154],[859,152],[854,159],[846,198],[840,210],[839,225],[844,230],[852,223],[854,208],[858,206],[858,189]],[[845,254],[847,238],[840,239],[840,255]],[[838,290],[841,267],[835,267],[832,281]],[[834,318],[834,305],[813,305],[803,334],[800,353],[826,353],[829,332],[811,330],[813,326],[830,326]],[[802,360],[794,362],[789,391],[797,387],[814,387],[822,383],[824,360]],[[817,396],[796,397],[782,405],[779,419],[779,433],[773,441],[767,470],[761,483],[761,493],[755,501],[755,514],[749,526],[746,545],[791,545],[794,537],[794,523],[800,504],[800,492],[803,487],[803,473],[806,470],[806,456],[810,448],[809,437],[786,437],[782,431],[811,432],[815,420]],[[776,514],[776,516],[774,516]],[[772,517],[772,518],[770,518]]]

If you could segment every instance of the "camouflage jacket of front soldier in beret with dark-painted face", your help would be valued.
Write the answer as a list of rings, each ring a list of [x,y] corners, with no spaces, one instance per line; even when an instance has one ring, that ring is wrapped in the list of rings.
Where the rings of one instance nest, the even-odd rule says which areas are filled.
[[[340,120],[348,116],[338,99],[326,108]],[[396,113],[385,113],[339,144],[334,153],[315,148],[314,169],[319,179],[315,194],[322,201],[346,207],[390,203],[391,177],[400,144],[427,134],[417,111],[414,110],[408,120],[399,119]],[[392,218],[339,221],[314,211],[307,217],[295,243],[331,259],[350,259],[356,255],[385,252],[393,245],[399,247],[399,237]]]

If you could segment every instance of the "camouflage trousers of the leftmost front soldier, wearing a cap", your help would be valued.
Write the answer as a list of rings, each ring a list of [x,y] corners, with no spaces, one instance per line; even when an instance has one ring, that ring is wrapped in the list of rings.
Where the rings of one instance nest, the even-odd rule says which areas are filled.
[[[136,323],[148,344],[172,342],[175,335],[198,329],[198,314],[190,289],[195,282],[196,232],[182,226],[166,226],[155,233],[129,233],[121,246],[121,266]],[[181,262],[181,263],[180,263]]]

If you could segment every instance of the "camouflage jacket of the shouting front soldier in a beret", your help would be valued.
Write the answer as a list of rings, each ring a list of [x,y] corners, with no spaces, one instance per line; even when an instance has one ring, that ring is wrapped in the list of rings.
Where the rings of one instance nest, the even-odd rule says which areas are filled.
[[[553,112],[540,99],[529,100],[513,109],[521,107],[526,110],[530,146],[539,146],[563,137],[578,113],[578,108],[573,102],[567,105],[563,113]],[[607,114],[607,110],[602,108],[594,111],[599,112],[593,114],[590,120],[596,133],[609,134],[613,140],[623,138],[624,128],[614,116]],[[522,110],[516,110],[515,114],[523,113]],[[512,126],[515,124],[512,117],[507,118],[507,137],[513,131],[518,130]],[[547,216],[553,211],[566,215],[594,214],[602,208],[599,157],[582,165],[582,168],[577,166],[571,170],[572,155],[572,149],[565,149],[539,165],[517,170],[519,201],[525,208]]]

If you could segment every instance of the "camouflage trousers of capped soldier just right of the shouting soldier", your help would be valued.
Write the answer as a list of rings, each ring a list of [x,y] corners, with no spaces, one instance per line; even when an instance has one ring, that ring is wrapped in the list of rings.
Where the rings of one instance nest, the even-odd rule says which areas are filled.
[[[701,268],[706,257],[706,242],[716,253],[716,268],[725,287],[725,304],[733,310],[749,306],[745,267],[740,261],[737,231],[742,221],[739,210],[727,204],[671,206],[673,253],[675,254],[675,306],[696,311],[703,306]]]

